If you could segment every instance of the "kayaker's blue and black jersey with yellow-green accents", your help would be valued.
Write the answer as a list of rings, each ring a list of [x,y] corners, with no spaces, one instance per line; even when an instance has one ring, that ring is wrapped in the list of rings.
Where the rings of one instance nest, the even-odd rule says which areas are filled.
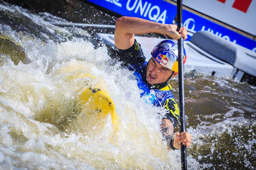
[[[116,48],[116,55],[119,61],[124,62],[130,71],[134,71],[138,87],[143,90],[141,97],[146,102],[152,103],[157,107],[165,107],[168,112],[163,119],[168,119],[175,127],[179,121],[179,107],[172,94],[172,87],[167,82],[161,84],[149,84],[146,80],[147,62],[141,45],[134,40],[134,44],[129,49]]]

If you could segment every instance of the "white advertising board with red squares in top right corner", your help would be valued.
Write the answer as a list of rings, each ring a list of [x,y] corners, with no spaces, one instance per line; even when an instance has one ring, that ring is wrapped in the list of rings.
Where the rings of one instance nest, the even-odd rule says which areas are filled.
[[[183,5],[256,36],[255,0],[183,0]]]

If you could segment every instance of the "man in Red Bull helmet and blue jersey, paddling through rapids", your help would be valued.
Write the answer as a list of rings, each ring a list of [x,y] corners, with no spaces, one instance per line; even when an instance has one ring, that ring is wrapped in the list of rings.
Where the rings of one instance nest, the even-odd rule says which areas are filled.
[[[137,84],[143,90],[141,97],[146,97],[157,107],[166,107],[167,114],[162,119],[161,130],[169,148],[180,148],[180,143],[189,146],[191,134],[176,132],[174,127],[179,120],[179,107],[172,95],[169,80],[178,74],[177,43],[164,40],[156,45],[151,52],[151,59],[146,62],[141,45],[134,38],[134,34],[160,33],[173,39],[187,38],[186,27],[177,30],[175,24],[161,24],[137,17],[120,17],[116,20],[115,47],[118,59],[127,66],[137,79]],[[186,53],[184,49],[186,62]],[[150,91],[154,91],[153,93]]]

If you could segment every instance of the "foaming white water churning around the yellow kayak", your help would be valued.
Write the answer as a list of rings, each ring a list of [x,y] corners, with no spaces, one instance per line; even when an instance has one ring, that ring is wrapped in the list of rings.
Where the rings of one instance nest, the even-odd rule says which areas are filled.
[[[76,38],[45,43],[29,36],[19,43],[32,62],[16,66],[7,59],[0,67],[1,169],[180,169],[180,151],[167,150],[161,138],[156,113],[165,110],[140,98],[132,72],[114,63],[106,47]],[[79,132],[40,121],[45,113],[65,119],[79,110],[77,96],[89,86],[115,103],[117,133],[110,115],[102,129]],[[188,163],[197,168],[192,158]]]

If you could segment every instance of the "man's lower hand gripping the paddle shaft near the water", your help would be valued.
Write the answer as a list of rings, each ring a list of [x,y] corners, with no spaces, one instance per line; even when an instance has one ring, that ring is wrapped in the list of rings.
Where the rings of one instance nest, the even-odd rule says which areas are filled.
[[[180,143],[189,147],[191,143],[191,134],[187,132],[176,132],[174,135],[173,147],[180,149]]]

